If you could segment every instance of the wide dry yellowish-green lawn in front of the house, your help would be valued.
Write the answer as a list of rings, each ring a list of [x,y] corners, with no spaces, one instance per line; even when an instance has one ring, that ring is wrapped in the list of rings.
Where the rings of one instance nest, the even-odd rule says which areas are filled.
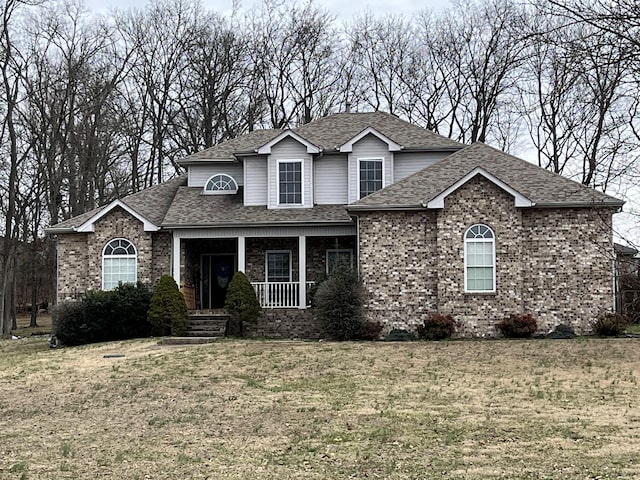
[[[4,340],[0,478],[640,478],[639,370],[637,339]]]

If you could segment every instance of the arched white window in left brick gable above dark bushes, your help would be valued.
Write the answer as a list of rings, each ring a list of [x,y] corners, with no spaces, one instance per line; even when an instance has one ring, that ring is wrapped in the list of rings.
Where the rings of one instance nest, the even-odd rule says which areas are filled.
[[[112,290],[118,283],[136,283],[138,255],[129,240],[115,238],[102,251],[102,289]]]

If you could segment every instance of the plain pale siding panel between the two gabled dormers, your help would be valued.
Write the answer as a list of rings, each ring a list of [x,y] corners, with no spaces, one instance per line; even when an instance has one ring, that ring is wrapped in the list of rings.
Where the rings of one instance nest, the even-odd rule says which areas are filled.
[[[317,205],[346,205],[347,155],[330,155],[314,161],[314,193]]]

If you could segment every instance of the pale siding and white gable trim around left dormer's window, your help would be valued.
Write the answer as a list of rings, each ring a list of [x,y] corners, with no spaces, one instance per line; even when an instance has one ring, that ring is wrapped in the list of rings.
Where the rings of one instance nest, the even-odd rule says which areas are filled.
[[[307,147],[287,137],[271,148],[268,161],[269,208],[296,208],[278,205],[278,160],[302,160],[302,197],[303,206],[313,206],[313,162],[307,153]],[[299,208],[299,207],[298,207]]]

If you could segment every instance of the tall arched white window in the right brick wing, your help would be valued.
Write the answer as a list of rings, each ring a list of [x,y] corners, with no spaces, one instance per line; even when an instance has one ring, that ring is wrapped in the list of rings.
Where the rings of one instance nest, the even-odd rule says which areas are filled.
[[[495,245],[493,230],[486,225],[473,225],[464,234],[465,291],[496,291]]]

